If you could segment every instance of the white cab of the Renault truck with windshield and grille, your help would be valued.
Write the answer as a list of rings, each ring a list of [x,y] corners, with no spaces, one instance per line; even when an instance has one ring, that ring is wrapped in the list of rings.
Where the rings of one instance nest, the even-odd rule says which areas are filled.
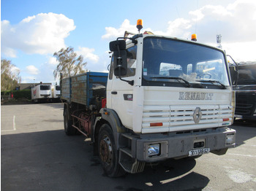
[[[107,106],[126,128],[166,133],[232,124],[233,93],[222,50],[146,34],[128,41],[125,51],[127,74],[121,79],[134,84],[114,75],[112,59]]]

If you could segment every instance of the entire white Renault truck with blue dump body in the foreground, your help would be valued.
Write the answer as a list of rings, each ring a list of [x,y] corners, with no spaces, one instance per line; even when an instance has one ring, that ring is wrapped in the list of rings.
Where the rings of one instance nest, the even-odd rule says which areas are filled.
[[[91,138],[110,177],[170,158],[224,155],[236,141],[225,52],[194,41],[136,34],[110,42],[108,74],[61,80],[64,130]]]

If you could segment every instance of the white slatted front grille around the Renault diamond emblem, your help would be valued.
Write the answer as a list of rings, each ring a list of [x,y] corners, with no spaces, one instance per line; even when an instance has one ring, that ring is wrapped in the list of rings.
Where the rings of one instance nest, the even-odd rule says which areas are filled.
[[[195,109],[198,107],[201,118],[196,123],[194,118],[198,116],[195,116]],[[223,122],[224,118],[229,120]],[[232,106],[229,105],[144,106],[142,128],[144,133],[151,132],[153,128],[158,128],[161,132],[170,132],[231,125],[231,120]],[[151,123],[156,122],[162,122],[162,126],[151,127]]]

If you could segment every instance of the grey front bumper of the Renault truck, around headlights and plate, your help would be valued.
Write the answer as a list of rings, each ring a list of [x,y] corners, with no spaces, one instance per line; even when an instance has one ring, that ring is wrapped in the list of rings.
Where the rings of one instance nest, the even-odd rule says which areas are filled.
[[[225,151],[229,147],[234,147],[236,142],[236,130],[230,128],[217,128],[211,130],[201,130],[196,132],[176,133],[176,135],[159,135],[159,133],[148,136],[140,136],[140,139],[133,140],[134,148],[132,154],[137,160],[153,163],[167,158],[187,157],[190,150],[195,148],[196,142],[203,142],[203,147],[209,148],[211,152],[217,154],[218,151]],[[228,136],[227,136],[228,135]],[[230,142],[230,135],[233,140]],[[227,143],[227,139],[228,142]],[[159,144],[159,155],[149,156],[148,146],[151,144]],[[223,155],[225,152],[219,152]],[[217,154],[218,155],[218,154]]]

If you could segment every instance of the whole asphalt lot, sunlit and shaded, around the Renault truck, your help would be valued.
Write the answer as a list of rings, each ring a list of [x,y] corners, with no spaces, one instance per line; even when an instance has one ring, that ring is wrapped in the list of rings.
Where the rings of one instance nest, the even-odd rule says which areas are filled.
[[[105,176],[84,136],[66,136],[62,104],[1,106],[1,190],[256,190],[256,122],[236,120],[226,155],[168,160]]]

